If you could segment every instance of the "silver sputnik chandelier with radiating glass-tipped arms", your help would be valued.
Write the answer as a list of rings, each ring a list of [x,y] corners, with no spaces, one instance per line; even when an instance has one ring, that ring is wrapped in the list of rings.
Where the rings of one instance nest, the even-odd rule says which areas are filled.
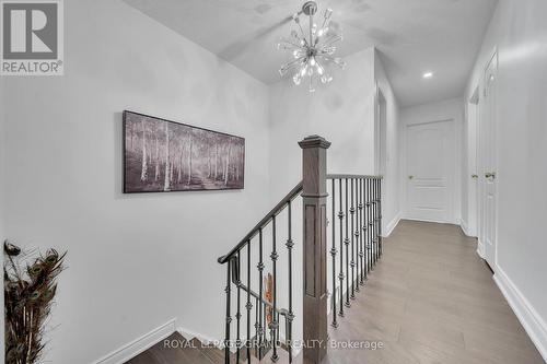
[[[279,73],[281,77],[291,73],[292,81],[296,85],[300,85],[302,80],[309,77],[310,92],[315,91],[317,80],[324,84],[333,81],[333,77],[326,69],[327,66],[334,63],[341,69],[346,67],[346,62],[341,58],[334,57],[335,44],[342,40],[342,35],[338,24],[330,21],[333,10],[330,8],[325,10],[321,27],[314,22],[316,12],[317,3],[306,1],[302,10],[292,16],[300,32],[293,30],[289,38],[283,37],[278,44],[278,49],[290,51],[294,58],[281,66]],[[303,27],[306,24],[302,24],[300,20],[301,14],[309,17],[310,31],[307,35]]]

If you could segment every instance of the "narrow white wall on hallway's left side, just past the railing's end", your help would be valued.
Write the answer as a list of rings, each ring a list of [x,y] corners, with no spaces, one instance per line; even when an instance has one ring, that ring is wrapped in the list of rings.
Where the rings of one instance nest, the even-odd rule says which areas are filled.
[[[382,232],[383,234],[389,234],[400,219],[400,122],[397,98],[377,51],[374,52],[374,79],[386,101],[386,161],[384,162],[385,175],[382,190]]]

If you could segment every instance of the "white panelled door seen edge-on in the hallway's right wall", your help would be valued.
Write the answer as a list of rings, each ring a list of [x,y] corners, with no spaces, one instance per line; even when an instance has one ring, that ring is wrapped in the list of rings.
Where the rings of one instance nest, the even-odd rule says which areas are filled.
[[[496,266],[496,82],[498,57],[494,55],[485,71],[482,118],[480,120],[482,231],[485,259]]]

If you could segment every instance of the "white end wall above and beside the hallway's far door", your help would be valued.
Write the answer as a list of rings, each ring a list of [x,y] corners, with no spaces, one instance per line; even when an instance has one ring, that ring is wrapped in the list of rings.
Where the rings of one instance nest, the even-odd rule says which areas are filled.
[[[401,200],[403,214],[406,214],[406,198],[407,198],[407,171],[406,171],[406,132],[407,126],[423,122],[454,120],[454,140],[455,140],[455,171],[454,171],[454,199],[453,199],[453,223],[459,224],[461,220],[461,196],[462,196],[462,130],[464,119],[464,103],[461,98],[450,98],[438,103],[405,107],[400,109],[400,121],[403,124],[401,150]]]

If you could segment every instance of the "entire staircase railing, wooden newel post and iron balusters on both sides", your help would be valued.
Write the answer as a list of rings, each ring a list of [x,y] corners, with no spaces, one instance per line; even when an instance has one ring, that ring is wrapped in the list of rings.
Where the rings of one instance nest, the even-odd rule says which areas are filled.
[[[327,285],[330,287],[330,312],[333,327],[338,327],[337,317],[344,317],[344,307],[351,306],[356,293],[365,284],[368,275],[382,256],[382,206],[381,185],[377,176],[327,175],[326,150],[330,145],[325,139],[313,136],[301,141],[303,150],[303,178],[276,207],[264,216],[240,243],[218,259],[226,265],[225,286],[225,334],[224,362],[232,360],[232,300],[235,298],[235,361],[251,362],[252,351],[263,359],[271,350],[271,361],[279,360],[279,347],[284,347],[289,362],[293,359],[293,200],[301,196],[302,250],[303,250],[303,354],[304,362],[319,363],[326,354],[327,344]],[[327,193],[327,188],[330,193]],[[327,206],[330,221],[327,221]],[[281,213],[283,213],[281,215]],[[286,263],[279,265],[278,224],[282,216],[287,221],[283,231]],[[338,220],[338,223],[336,221]],[[327,236],[329,225],[330,242]],[[265,236],[269,233],[268,236]],[[265,240],[270,244],[265,259]],[[330,254],[330,272],[327,273],[327,250]],[[266,253],[267,254],[267,253]],[[242,267],[242,260],[246,261]],[[257,274],[253,279],[258,292],[252,287],[252,261]],[[269,265],[271,274],[265,275]],[[280,269],[287,275],[287,308],[279,307],[278,278]],[[242,272],[244,273],[242,277]],[[265,278],[266,281],[265,281]],[[269,279],[271,278],[271,279]],[[256,282],[258,280],[258,282]],[[246,281],[246,282],[245,282]],[[255,287],[256,287],[255,285]],[[233,293],[232,291],[235,290]],[[242,297],[242,294],[244,295]],[[235,296],[235,297],[233,297]],[[253,306],[254,302],[254,306]],[[244,304],[246,315],[242,315]],[[253,308],[255,313],[253,315]],[[338,309],[337,309],[338,308]],[[254,318],[253,318],[254,316]],[[280,319],[284,320],[284,338],[280,338]],[[254,319],[254,338],[252,320]],[[242,325],[246,332],[242,332]],[[269,332],[268,332],[269,331]],[[269,337],[268,337],[269,333]],[[242,340],[245,336],[245,340]],[[313,343],[313,344],[311,344]]]

